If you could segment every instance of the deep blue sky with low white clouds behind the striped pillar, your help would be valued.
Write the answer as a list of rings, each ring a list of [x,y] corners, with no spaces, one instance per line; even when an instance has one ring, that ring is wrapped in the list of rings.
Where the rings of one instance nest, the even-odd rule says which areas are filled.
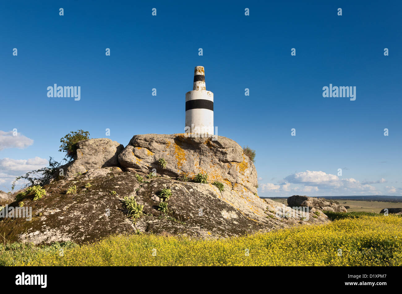
[[[256,150],[260,196],[402,195],[402,4],[321,2],[1,2],[0,189],[61,159],[72,130],[183,132],[202,65],[217,134]],[[80,101],[47,97],[54,83]],[[330,83],[356,100],[323,97]]]

